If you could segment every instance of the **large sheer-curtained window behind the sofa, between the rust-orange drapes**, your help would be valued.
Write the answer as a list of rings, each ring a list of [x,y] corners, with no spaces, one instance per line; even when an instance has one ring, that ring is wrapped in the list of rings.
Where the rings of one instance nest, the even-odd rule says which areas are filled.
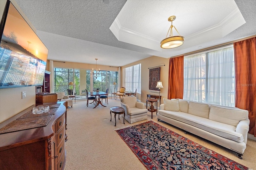
[[[234,49],[230,46],[185,57],[183,99],[234,107],[234,72]]]

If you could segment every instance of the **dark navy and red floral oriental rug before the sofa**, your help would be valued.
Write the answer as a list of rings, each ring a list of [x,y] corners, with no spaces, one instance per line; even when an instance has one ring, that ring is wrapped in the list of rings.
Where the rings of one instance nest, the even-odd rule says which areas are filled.
[[[154,121],[116,132],[148,170],[249,170]]]

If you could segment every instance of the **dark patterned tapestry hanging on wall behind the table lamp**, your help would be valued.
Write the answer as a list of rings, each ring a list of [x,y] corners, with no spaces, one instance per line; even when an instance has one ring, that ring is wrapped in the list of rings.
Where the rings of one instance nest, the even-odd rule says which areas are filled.
[[[160,67],[149,69],[149,90],[156,90],[157,82],[160,80]]]

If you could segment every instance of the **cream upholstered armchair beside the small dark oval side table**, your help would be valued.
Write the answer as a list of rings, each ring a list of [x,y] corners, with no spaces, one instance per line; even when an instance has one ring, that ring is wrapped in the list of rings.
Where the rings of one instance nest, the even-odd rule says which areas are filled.
[[[120,100],[121,107],[125,110],[125,117],[124,114],[122,114],[122,117],[129,123],[148,119],[148,109],[145,109],[142,102],[137,102],[136,97],[128,96],[120,98]]]

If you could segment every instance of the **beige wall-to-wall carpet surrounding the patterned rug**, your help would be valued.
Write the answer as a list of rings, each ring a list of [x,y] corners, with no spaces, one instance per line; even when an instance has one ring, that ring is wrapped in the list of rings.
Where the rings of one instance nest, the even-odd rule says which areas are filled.
[[[110,107],[120,106],[120,100],[109,98],[108,104],[105,102],[103,104],[107,107],[98,106],[93,109],[93,104],[86,107],[86,100],[76,100],[73,108],[68,108],[65,170],[146,170],[145,166],[115,131],[115,129],[132,124],[125,120],[124,125],[123,118],[120,116],[120,120],[118,120],[117,115],[115,127],[113,113],[112,121],[110,121]],[[155,121],[208,149],[256,170],[256,141],[248,140],[243,159],[240,160],[236,153],[231,150],[195,135],[184,134],[181,129],[157,121],[156,112],[153,113],[153,119],[151,119],[151,112],[148,112],[148,120]],[[133,124],[141,122],[143,121]]]

